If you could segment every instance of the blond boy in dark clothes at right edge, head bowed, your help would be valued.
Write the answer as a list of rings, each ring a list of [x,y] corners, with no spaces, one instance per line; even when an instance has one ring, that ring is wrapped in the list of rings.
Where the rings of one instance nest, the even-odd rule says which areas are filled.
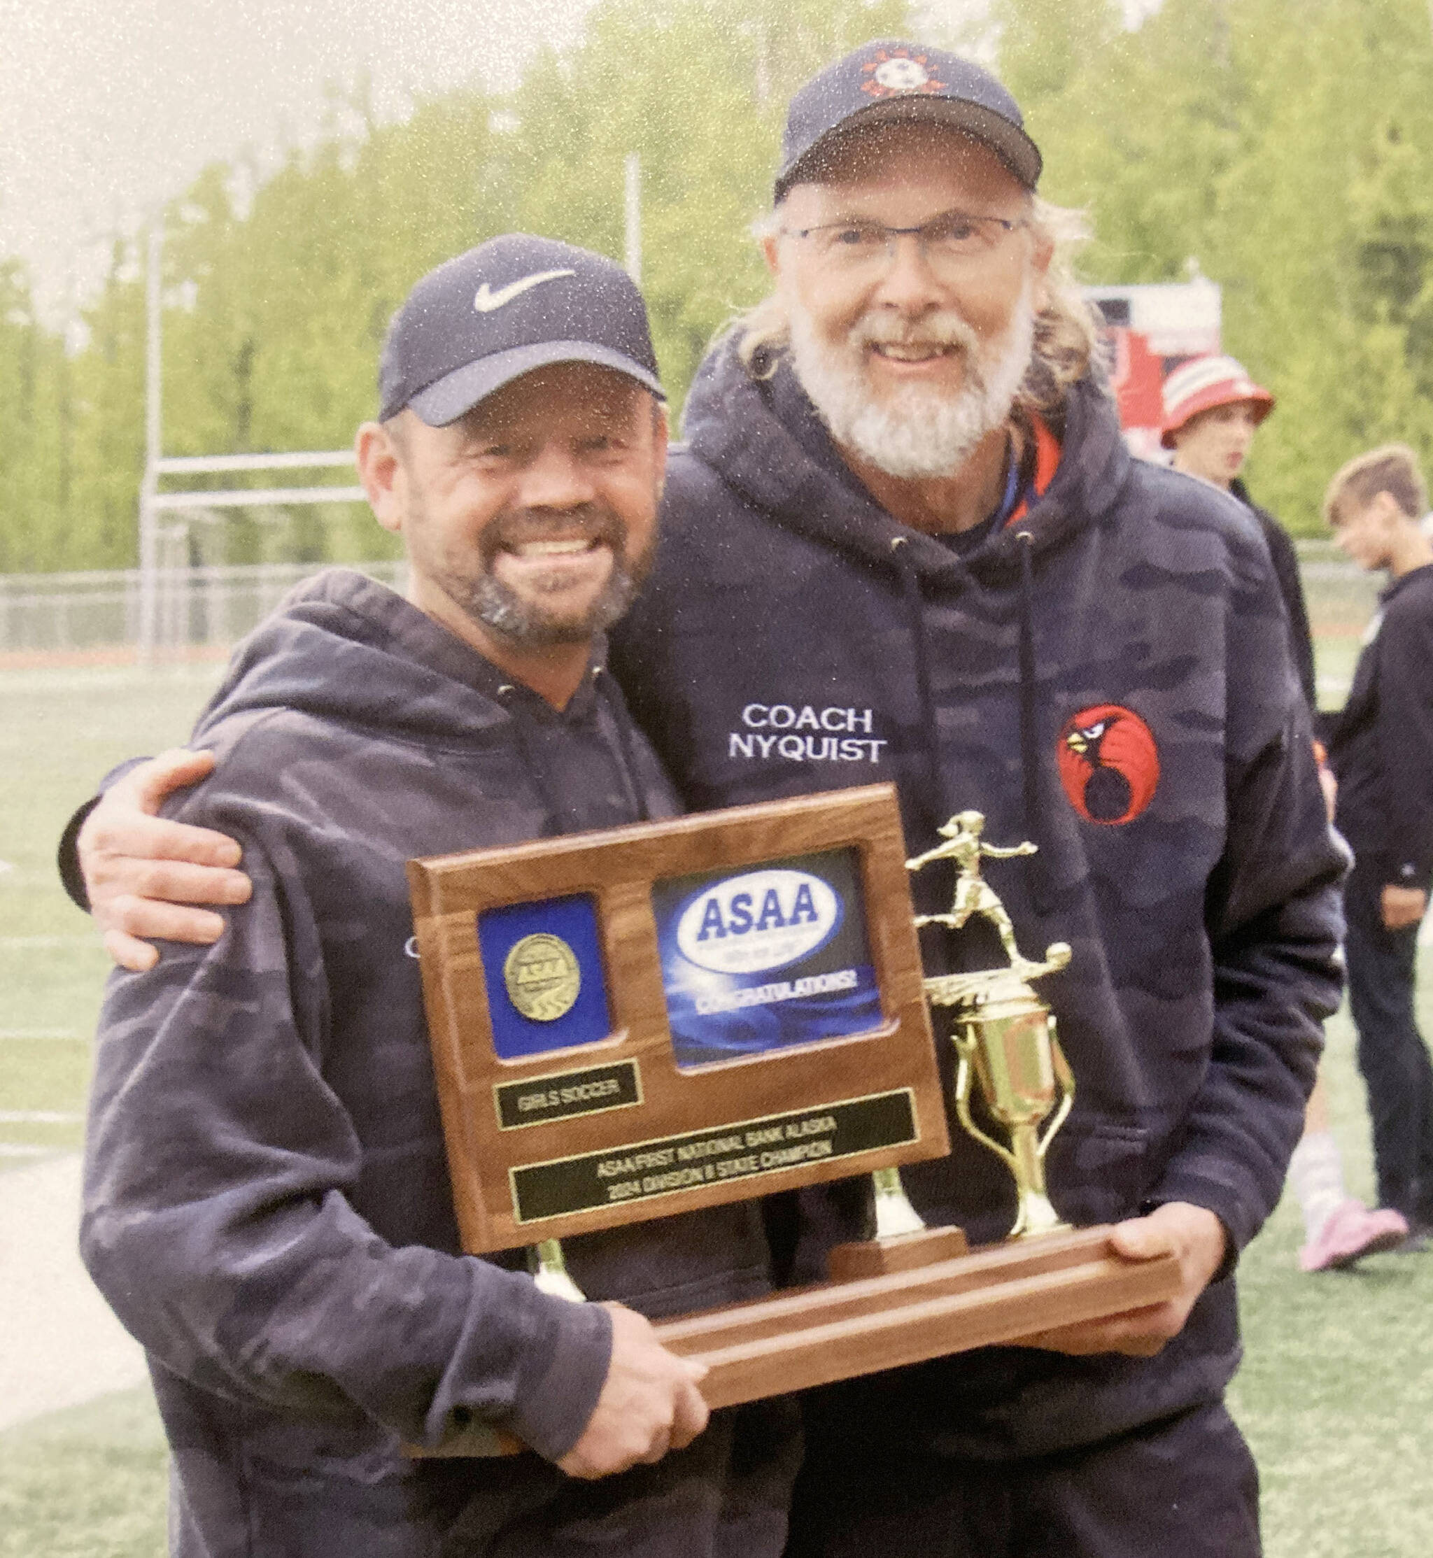
[[[1324,519],[1340,550],[1388,584],[1327,720],[1335,824],[1354,848],[1344,883],[1349,1005],[1368,1086],[1378,1201],[1433,1232],[1433,1064],[1414,1016],[1417,927],[1433,882],[1433,541],[1417,456],[1385,444],[1329,483]]]

